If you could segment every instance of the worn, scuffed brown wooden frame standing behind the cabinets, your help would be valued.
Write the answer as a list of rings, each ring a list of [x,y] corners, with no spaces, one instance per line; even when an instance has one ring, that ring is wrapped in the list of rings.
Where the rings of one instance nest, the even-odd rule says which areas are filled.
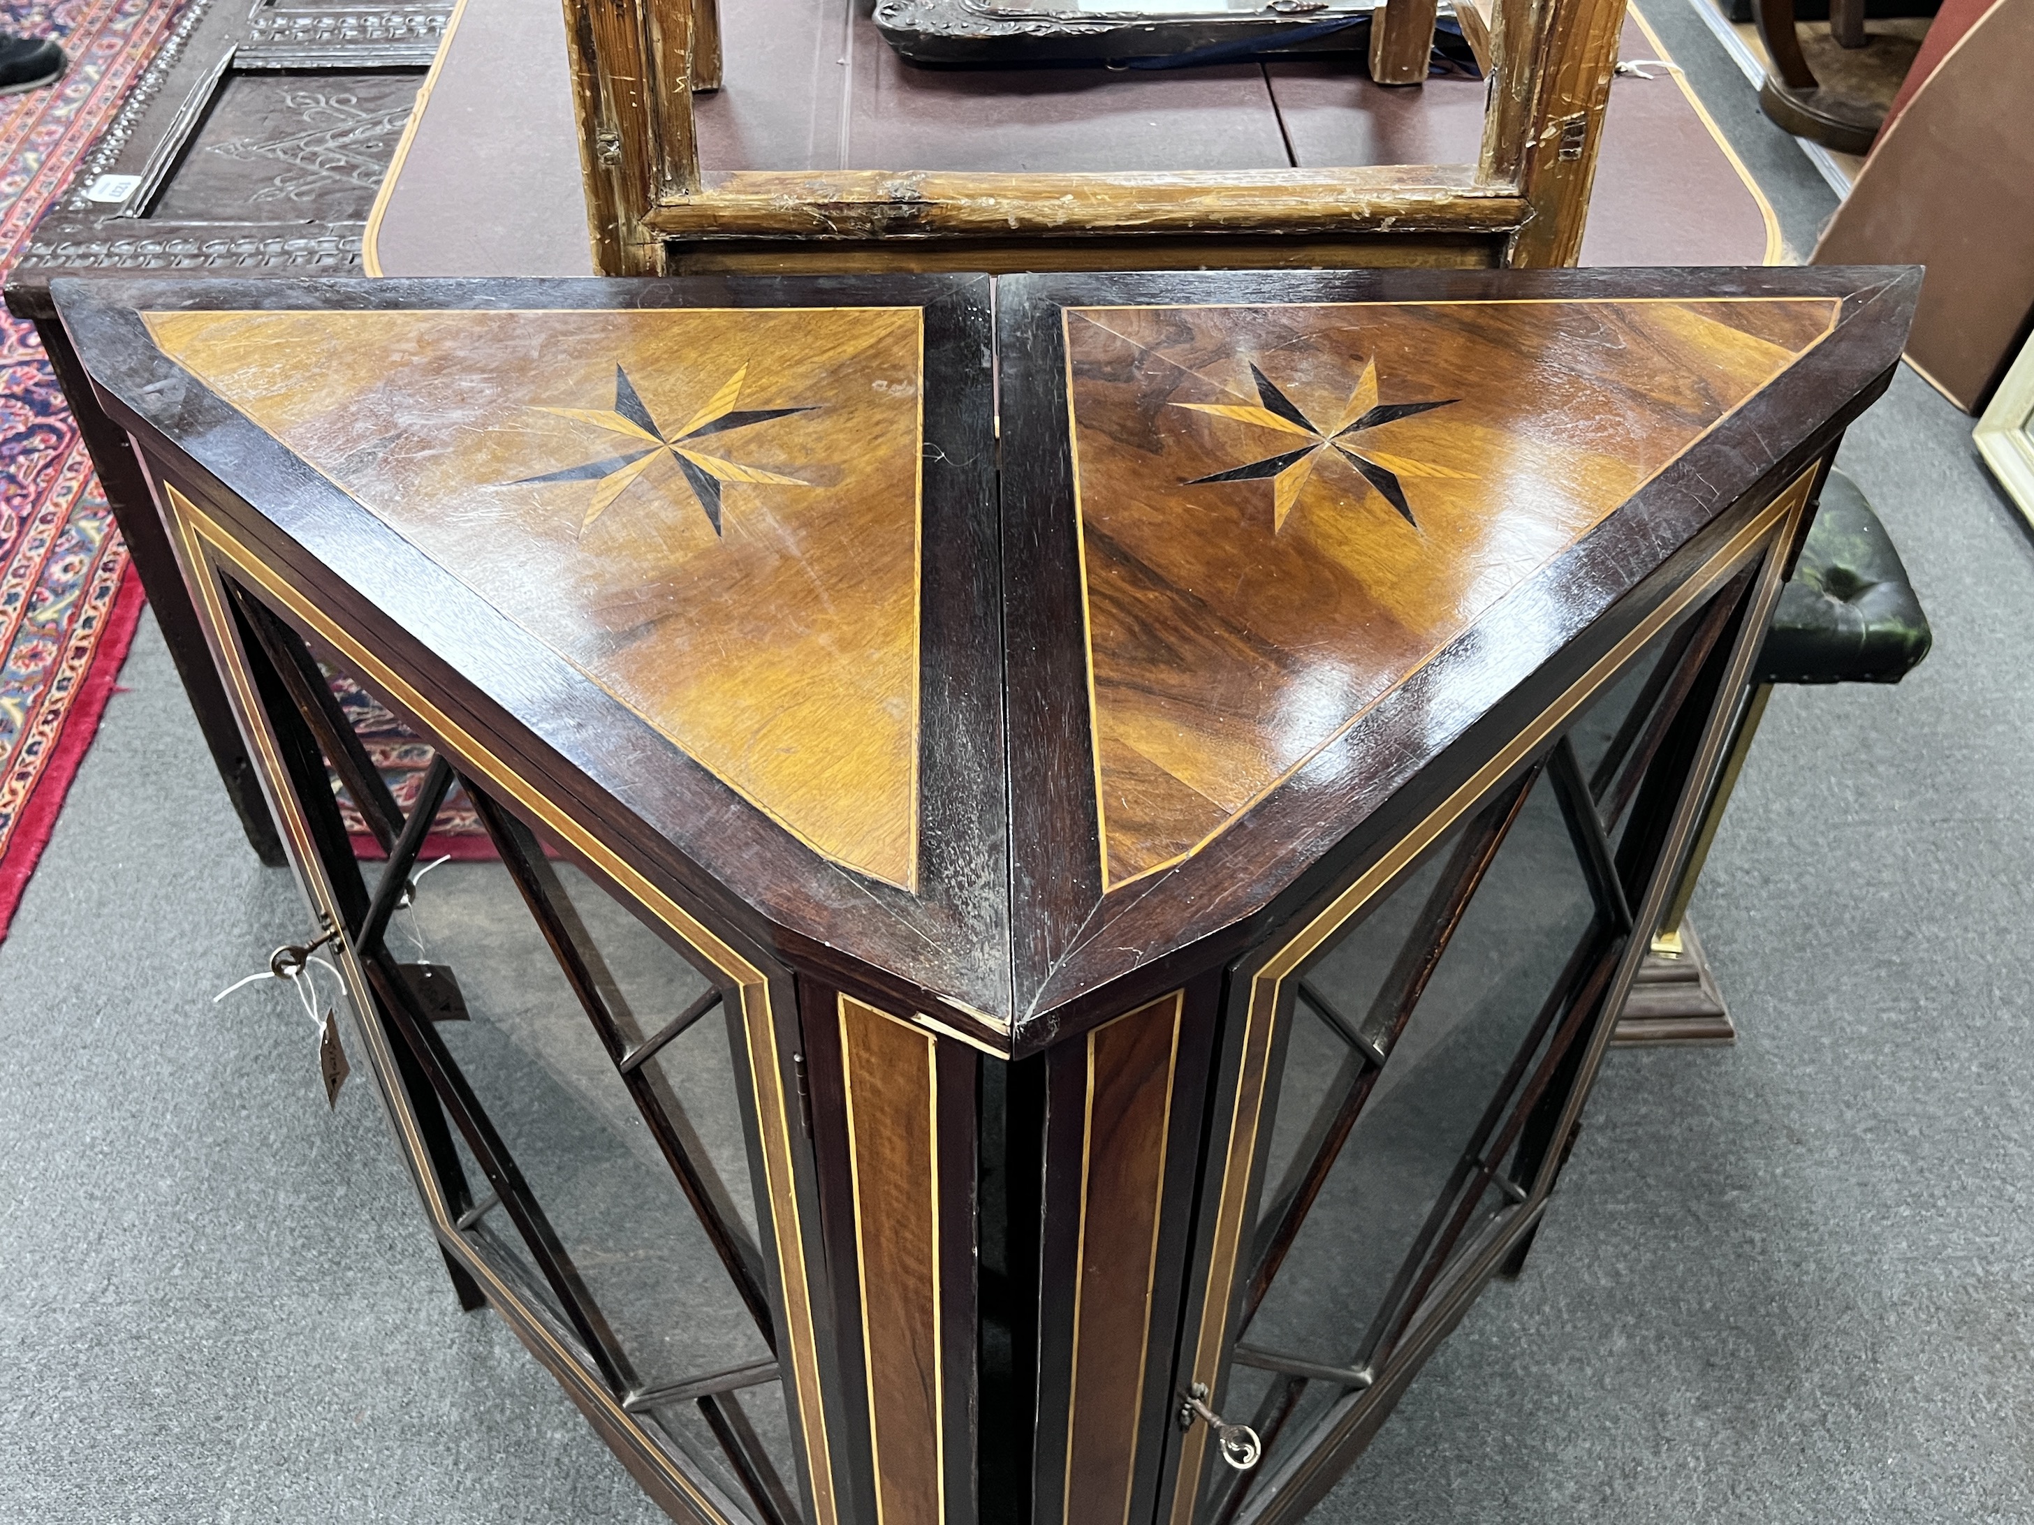
[[[1475,165],[712,173],[700,169],[692,96],[724,83],[718,0],[565,0],[594,268],[1572,264],[1625,8],[1495,0],[1491,10]],[[1371,49],[1379,79],[1422,81],[1432,30],[1432,0],[1385,0]]]

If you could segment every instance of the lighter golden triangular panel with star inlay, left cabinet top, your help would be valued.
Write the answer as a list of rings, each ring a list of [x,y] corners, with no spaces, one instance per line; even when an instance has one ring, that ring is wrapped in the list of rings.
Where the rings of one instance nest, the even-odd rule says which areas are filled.
[[[917,307],[146,323],[781,826],[915,884]]]

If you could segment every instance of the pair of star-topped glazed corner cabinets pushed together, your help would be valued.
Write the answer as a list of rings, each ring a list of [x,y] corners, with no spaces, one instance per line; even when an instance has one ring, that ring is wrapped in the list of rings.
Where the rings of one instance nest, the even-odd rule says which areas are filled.
[[[1269,1525],[1523,1263],[1916,287],[55,295],[460,1299],[643,1486]]]

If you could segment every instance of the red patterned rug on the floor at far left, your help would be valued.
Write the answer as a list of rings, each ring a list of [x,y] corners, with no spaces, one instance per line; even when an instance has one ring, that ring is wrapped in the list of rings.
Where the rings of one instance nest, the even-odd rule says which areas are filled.
[[[175,0],[8,6],[69,73],[0,98],[0,277],[175,24]],[[0,937],[140,618],[140,580],[35,329],[0,313]]]

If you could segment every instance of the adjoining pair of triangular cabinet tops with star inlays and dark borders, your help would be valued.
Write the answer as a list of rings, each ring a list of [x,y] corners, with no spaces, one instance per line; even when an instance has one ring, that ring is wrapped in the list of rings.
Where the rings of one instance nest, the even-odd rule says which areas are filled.
[[[57,299],[228,575],[456,716],[462,762],[710,921],[1027,1049],[1330,893],[1497,754],[1883,388],[1916,285]]]

